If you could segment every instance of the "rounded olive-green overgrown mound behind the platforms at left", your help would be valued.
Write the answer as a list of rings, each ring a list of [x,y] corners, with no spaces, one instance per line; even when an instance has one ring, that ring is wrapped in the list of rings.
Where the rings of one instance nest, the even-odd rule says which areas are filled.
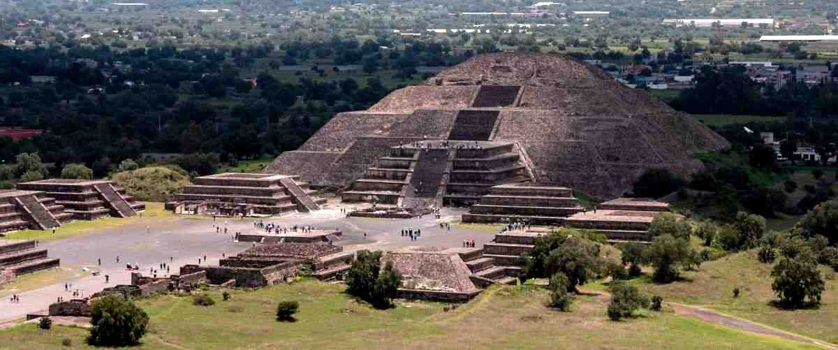
[[[142,167],[111,177],[127,194],[140,201],[165,202],[189,184],[189,176],[168,167]]]

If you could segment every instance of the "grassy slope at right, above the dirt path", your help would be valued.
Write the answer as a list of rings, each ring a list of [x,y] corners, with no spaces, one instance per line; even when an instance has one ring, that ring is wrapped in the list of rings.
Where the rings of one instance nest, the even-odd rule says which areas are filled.
[[[826,291],[819,309],[788,311],[770,304],[776,300],[771,290],[772,267],[759,263],[757,251],[750,250],[702,264],[698,271],[684,271],[684,281],[659,285],[646,275],[630,283],[641,291],[663,296],[665,301],[706,306],[785,331],[838,343],[838,323],[835,322],[838,320],[838,281],[835,281],[835,272],[822,270],[826,276]],[[733,288],[741,291],[738,298],[733,297]]]

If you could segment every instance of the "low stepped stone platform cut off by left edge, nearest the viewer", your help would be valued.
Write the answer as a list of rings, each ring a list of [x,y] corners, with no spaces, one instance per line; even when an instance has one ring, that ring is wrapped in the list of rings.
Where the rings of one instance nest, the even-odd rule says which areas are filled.
[[[0,243],[0,286],[18,275],[47,270],[61,265],[61,260],[50,258],[47,250],[39,249],[34,240]]]

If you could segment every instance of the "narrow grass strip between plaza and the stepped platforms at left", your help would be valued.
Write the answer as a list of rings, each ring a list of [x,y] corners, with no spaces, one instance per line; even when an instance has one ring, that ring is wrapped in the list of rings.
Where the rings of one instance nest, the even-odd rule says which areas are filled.
[[[52,234],[52,230],[49,229],[26,229],[23,231],[17,231],[10,234],[6,234],[6,236],[3,237],[3,239],[35,239],[45,242],[49,240],[63,239],[65,237],[77,234],[86,234],[99,229],[114,229],[127,224],[136,224],[142,219],[162,219],[173,215],[171,212],[168,212],[163,208],[163,203],[147,202],[145,204],[146,211],[142,213],[142,218],[140,218],[137,215],[124,219],[107,217],[92,221],[76,220],[71,222],[70,224],[62,225],[61,227],[55,230],[55,234]]]

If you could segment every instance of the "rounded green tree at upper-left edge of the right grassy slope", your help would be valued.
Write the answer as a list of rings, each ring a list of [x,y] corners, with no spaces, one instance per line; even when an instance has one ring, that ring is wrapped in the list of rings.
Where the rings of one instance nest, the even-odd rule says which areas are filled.
[[[647,253],[649,263],[654,266],[655,281],[668,283],[678,278],[678,264],[689,263],[692,255],[690,242],[664,234],[654,239]]]

